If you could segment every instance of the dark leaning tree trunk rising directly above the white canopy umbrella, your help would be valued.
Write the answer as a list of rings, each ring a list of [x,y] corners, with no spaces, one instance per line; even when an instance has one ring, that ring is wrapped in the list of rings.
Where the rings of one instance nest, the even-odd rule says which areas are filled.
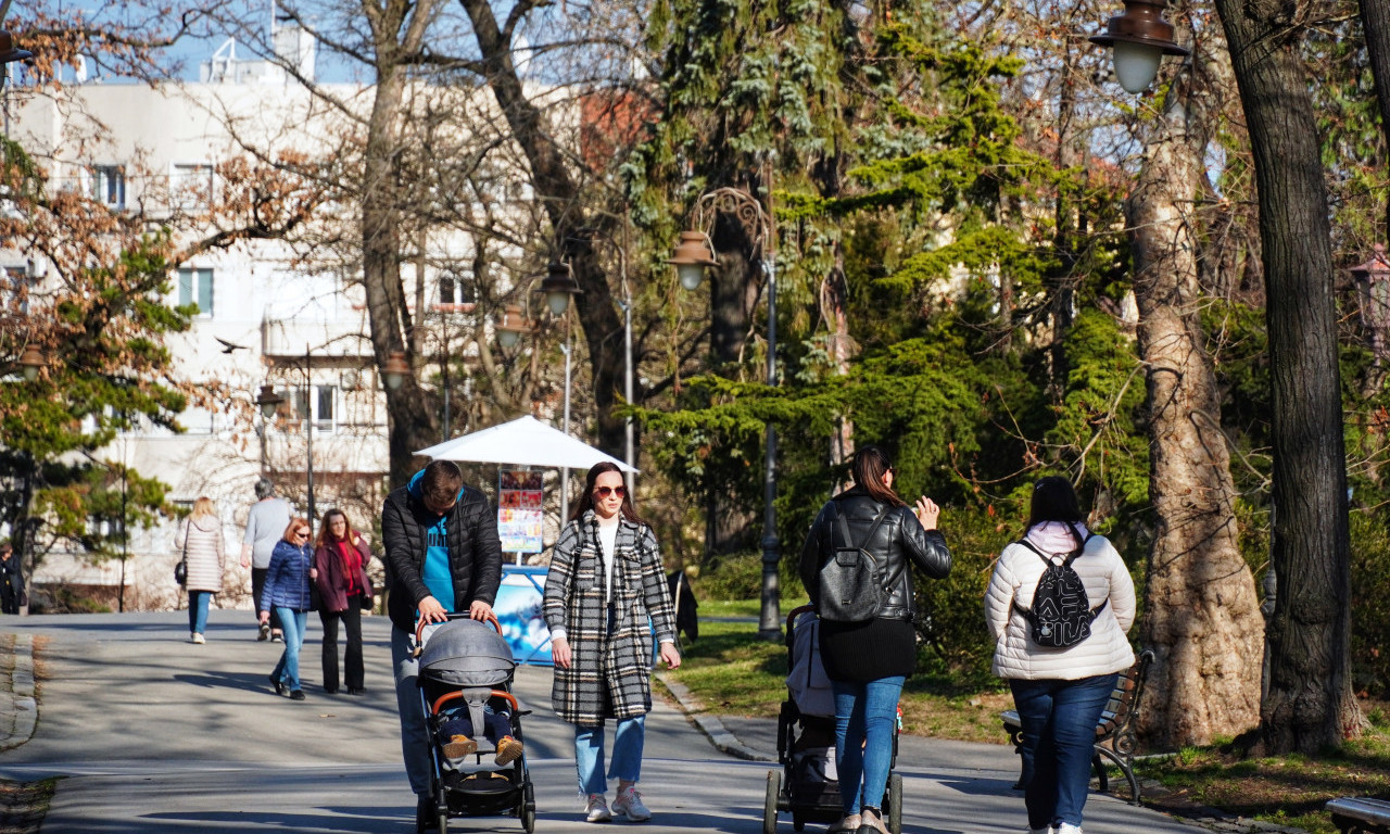
[[[598,445],[621,457],[626,434],[623,420],[613,416],[613,406],[617,402],[617,382],[623,378],[623,320],[613,302],[607,275],[594,256],[594,235],[585,229],[578,188],[564,167],[564,154],[555,146],[556,133],[549,120],[525,97],[512,61],[510,32],[498,26],[486,0],[460,0],[460,6],[473,22],[488,86],[506,115],[512,138],[525,153],[535,197],[545,207],[555,238],[560,242],[560,254],[570,260],[574,279],[584,293],[574,299],[574,306],[589,352]]]

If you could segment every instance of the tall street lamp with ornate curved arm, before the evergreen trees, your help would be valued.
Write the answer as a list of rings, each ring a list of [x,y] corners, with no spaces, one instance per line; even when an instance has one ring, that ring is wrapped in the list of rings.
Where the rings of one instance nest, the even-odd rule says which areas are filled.
[[[681,242],[667,263],[676,267],[681,285],[687,289],[699,286],[705,268],[719,263],[709,232],[714,217],[731,214],[738,218],[748,238],[753,242],[753,257],[763,265],[767,281],[767,385],[777,385],[777,274],[776,246],[771,211],[762,202],[738,188],[719,188],[705,192],[695,202],[692,221],[695,228],[681,232]],[[763,459],[763,588],[762,614],[758,635],[763,639],[781,637],[781,592],[777,580],[777,564],[781,562],[781,541],[777,537],[777,430],[769,421],[766,428]]]

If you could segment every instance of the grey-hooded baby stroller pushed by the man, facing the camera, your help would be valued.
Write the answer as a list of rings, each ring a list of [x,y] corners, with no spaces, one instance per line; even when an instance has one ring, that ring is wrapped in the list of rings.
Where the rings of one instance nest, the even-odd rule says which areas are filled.
[[[424,624],[416,630],[421,645]],[[467,614],[450,614],[418,649],[420,701],[425,710],[430,751],[434,762],[431,792],[439,812],[439,834],[448,834],[449,817],[506,815],[521,820],[527,834],[535,830],[535,788],[527,770],[525,753],[498,766],[496,748],[484,737],[484,714],[506,714],[512,737],[521,738],[521,710],[512,695],[516,663],[512,648],[502,638],[496,619],[488,623]],[[471,717],[477,751],[450,758],[446,724]]]

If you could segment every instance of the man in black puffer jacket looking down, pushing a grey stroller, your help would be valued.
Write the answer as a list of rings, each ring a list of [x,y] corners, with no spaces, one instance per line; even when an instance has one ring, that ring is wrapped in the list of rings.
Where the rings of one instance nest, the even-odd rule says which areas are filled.
[[[463,482],[459,464],[435,460],[386,496],[381,542],[400,755],[416,794],[416,830],[424,831],[436,827],[439,817],[430,795],[434,764],[416,682],[416,621],[443,623],[450,613],[491,617],[502,584],[502,541],[498,516],[482,492]]]

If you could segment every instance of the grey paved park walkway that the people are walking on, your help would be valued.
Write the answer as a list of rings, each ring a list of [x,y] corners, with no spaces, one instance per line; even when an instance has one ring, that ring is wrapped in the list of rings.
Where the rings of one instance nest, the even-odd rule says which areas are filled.
[[[200,653],[207,659],[215,659],[215,664],[199,670],[199,674],[182,671],[179,666],[182,655],[196,651],[182,645],[182,641],[186,639],[182,613],[124,617],[29,617],[24,621],[4,623],[4,626],[13,627],[13,634],[0,634],[0,651],[7,649],[11,641],[14,649],[4,652],[7,656],[0,656],[0,751],[10,751],[0,756],[0,771],[4,771],[8,778],[19,781],[32,781],[50,773],[65,773],[75,777],[64,780],[64,787],[60,788],[49,815],[50,819],[43,823],[43,830],[47,831],[51,824],[54,834],[65,831],[89,834],[96,830],[89,826],[93,820],[92,815],[106,815],[111,820],[126,820],[121,824],[108,821],[107,827],[101,828],[108,831],[138,831],[142,830],[140,826],[146,826],[143,830],[149,830],[147,826],[153,824],[156,819],[161,820],[161,824],[172,826],[170,830],[179,830],[175,823],[186,826],[195,817],[204,823],[215,817],[217,826],[214,827],[221,826],[218,830],[228,831],[264,830],[286,824],[288,820],[293,820],[289,827],[304,831],[402,830],[404,826],[392,821],[396,816],[409,813],[395,809],[395,805],[399,805],[398,795],[402,792],[402,785],[398,783],[403,783],[399,773],[399,759],[391,752],[391,745],[385,745],[384,749],[367,749],[373,744],[379,744],[378,737],[389,735],[389,733],[381,733],[375,721],[385,721],[388,726],[395,721],[393,703],[389,703],[391,699],[386,696],[389,673],[386,680],[378,680],[382,670],[377,666],[368,670],[368,677],[378,676],[378,678],[368,681],[368,688],[375,687],[373,692],[378,698],[357,702],[354,699],[322,698],[314,694],[311,696],[314,709],[286,708],[288,701],[281,703],[259,691],[264,689],[264,674],[259,671],[260,666],[268,663],[267,657],[272,656],[275,649],[259,645],[250,638],[225,639],[222,634],[236,632],[240,635],[250,628],[242,623],[246,617],[235,617],[235,613],[220,614],[220,617],[214,617],[215,626],[229,631],[218,634],[215,652],[203,651]],[[373,617],[371,646],[374,652],[381,653],[385,651],[385,630],[384,621],[377,623],[377,620],[379,619]],[[122,637],[117,630],[131,634]],[[297,774],[296,778],[303,781],[303,785],[295,783],[300,794],[286,801],[286,808],[295,809],[293,813],[289,810],[279,815],[270,813],[268,806],[261,808],[261,803],[257,803],[256,810],[238,808],[240,796],[247,795],[247,791],[267,790],[265,773],[278,773],[263,770],[261,781],[247,781],[250,776],[246,774],[250,770],[242,759],[247,755],[247,744],[254,749],[254,742],[235,742],[232,737],[224,738],[222,734],[181,741],[185,734],[170,731],[161,734],[160,749],[172,752],[161,753],[160,762],[135,760],[132,748],[118,748],[124,751],[122,755],[132,756],[132,760],[107,762],[106,759],[111,753],[110,745],[114,742],[97,737],[81,741],[83,731],[79,727],[90,727],[93,716],[88,716],[86,723],[83,723],[79,716],[64,716],[61,712],[44,716],[42,731],[35,735],[35,723],[39,716],[35,705],[33,680],[36,642],[40,666],[57,676],[50,681],[50,689],[46,689],[46,698],[50,701],[53,698],[61,701],[63,694],[71,698],[74,692],[68,689],[76,688],[79,689],[76,695],[90,699],[95,705],[99,702],[95,695],[97,689],[110,692],[115,687],[122,692],[118,710],[133,709],[138,712],[138,709],[158,709],[161,705],[181,703],[178,699],[188,698],[189,692],[193,691],[189,687],[193,687],[199,698],[208,699],[210,709],[215,710],[213,714],[218,721],[238,724],[236,737],[264,730],[247,727],[243,723],[243,701],[254,702],[257,714],[268,714],[264,709],[270,705],[274,705],[277,710],[288,710],[282,721],[293,717],[300,723],[331,723],[332,713],[341,713],[343,719],[352,717],[353,723],[332,724],[341,727],[338,731],[343,735],[328,741],[320,738],[321,733],[299,733],[297,726],[291,723],[271,727],[271,731],[279,734],[277,738],[281,735],[300,738],[292,751],[293,760],[277,762],[277,767],[313,769],[318,763],[328,762],[335,764],[336,770],[320,767]],[[313,642],[316,641],[311,639],[310,644]],[[203,648],[197,646],[197,649]],[[306,646],[306,649],[309,664],[317,666],[316,648]],[[177,656],[165,663],[156,656],[139,652],[163,652]],[[107,674],[107,671],[92,674],[90,680],[78,680],[83,677],[76,674],[82,669],[96,673],[93,664],[100,664],[107,671],[129,667],[124,670],[126,674],[140,674],[154,682],[140,684],[147,687],[145,689],[139,689],[139,687],[131,689],[128,682]],[[158,682],[170,674],[165,666],[177,674],[172,674],[168,681]],[[243,667],[257,671],[250,673]],[[546,714],[549,713],[549,673],[539,669],[523,671],[525,674],[518,674],[517,680],[518,692],[525,696],[531,708],[537,709],[537,714],[528,719],[534,727],[528,727],[527,756],[528,760],[532,755],[535,756],[538,801],[546,810],[542,815],[546,817],[543,828],[555,834],[563,834],[567,828],[587,831],[587,826],[571,824],[574,813],[569,806],[573,803],[573,752],[567,742],[567,726],[557,724],[553,731],[549,727],[550,723],[556,723],[553,716]],[[694,699],[677,681],[667,681],[667,688],[677,696],[691,723],[708,735],[716,748],[744,760],[733,760],[709,749],[699,735],[680,721],[678,713],[662,709],[662,716],[653,714],[653,717],[664,716],[669,719],[662,733],[655,733],[649,723],[648,758],[651,762],[648,764],[651,767],[644,769],[644,784],[651,784],[652,796],[664,806],[662,827],[671,831],[752,833],[760,830],[763,781],[766,773],[776,767],[770,763],[777,759],[776,721],[709,716],[699,709],[699,705],[694,703]],[[129,706],[132,699],[142,703]],[[122,712],[110,720],[121,723],[125,719]],[[348,735],[359,719],[370,721],[370,726],[375,727],[361,739]],[[135,723],[138,724],[138,721]],[[368,724],[363,724],[364,730],[367,727]],[[163,738],[164,735],[171,738]],[[25,745],[31,738],[33,738],[32,744]],[[185,741],[188,744],[196,742],[197,749],[183,751],[182,746],[178,746],[183,745]],[[19,745],[24,746],[19,748]],[[345,753],[345,749],[352,751],[352,753]],[[361,762],[346,760],[345,755],[348,759],[357,755]],[[179,762],[177,769],[172,769],[174,762]],[[161,767],[163,770],[160,770]],[[910,788],[905,791],[908,796],[905,812],[912,820],[910,827],[905,824],[905,831],[910,828],[909,834],[998,834],[1022,827],[1022,798],[1009,788],[1017,777],[1017,760],[1006,745],[902,737],[898,769],[909,781]],[[156,770],[158,770],[158,778],[152,781],[150,774]],[[320,796],[322,785],[327,784],[325,780],[352,778],[361,781],[360,787],[354,788],[353,798],[360,801],[364,808],[371,806],[368,812],[356,806],[345,806],[317,809],[318,816],[304,816],[303,809],[297,808],[303,803],[304,796]],[[227,794],[225,798],[214,791],[214,783]],[[145,806],[150,798],[143,792],[152,790],[152,784],[160,785],[167,794],[167,796],[164,794],[156,796],[164,805],[154,816]],[[681,790],[673,790],[676,785],[681,785]],[[375,799],[373,791],[384,794],[384,798]],[[202,798],[197,801],[202,805],[217,806],[218,802],[222,802],[229,808],[238,808],[238,810],[232,813],[202,806],[193,810],[177,808],[177,802],[188,803],[195,796]],[[124,808],[122,802],[131,808]],[[381,812],[373,802],[388,810]],[[348,823],[339,819],[348,812],[356,815],[353,819],[359,821]],[[225,815],[225,819],[220,815]],[[325,816],[329,817],[327,823],[324,821]],[[787,821],[784,816],[783,823]],[[121,827],[122,824],[125,827]],[[1201,824],[1208,828],[1243,833],[1270,830],[1270,827],[1258,826],[1250,820],[1207,819]],[[1194,830],[1183,821],[1165,817],[1150,809],[1130,806],[1113,798],[1095,796],[1087,808],[1087,831],[1093,831],[1093,834],[1127,831],[1177,834],[1184,828]],[[514,830],[514,823],[503,830]],[[820,831],[823,828],[813,826],[810,830]],[[1283,828],[1283,831],[1289,831],[1289,828]]]

